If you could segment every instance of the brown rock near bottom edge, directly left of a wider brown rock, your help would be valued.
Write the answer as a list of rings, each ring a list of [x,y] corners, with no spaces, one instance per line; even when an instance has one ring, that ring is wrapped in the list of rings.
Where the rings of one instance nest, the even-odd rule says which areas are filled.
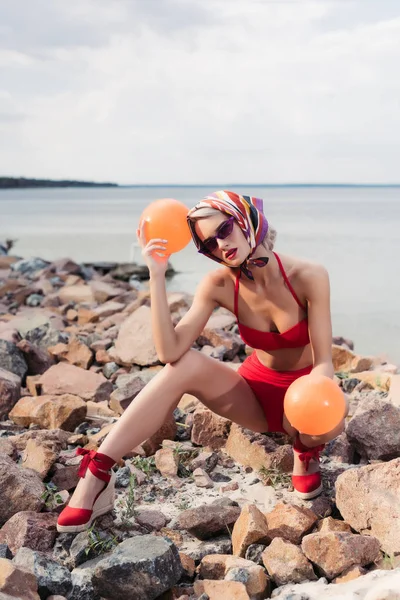
[[[276,585],[315,581],[312,564],[306,559],[299,546],[282,538],[274,538],[262,553],[262,560],[268,574]]]

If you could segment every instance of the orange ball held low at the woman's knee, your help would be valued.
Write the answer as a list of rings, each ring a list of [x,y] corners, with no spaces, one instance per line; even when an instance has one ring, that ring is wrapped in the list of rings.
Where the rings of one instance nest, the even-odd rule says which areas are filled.
[[[284,412],[300,433],[323,435],[345,415],[346,400],[340,387],[325,375],[304,375],[287,389]]]

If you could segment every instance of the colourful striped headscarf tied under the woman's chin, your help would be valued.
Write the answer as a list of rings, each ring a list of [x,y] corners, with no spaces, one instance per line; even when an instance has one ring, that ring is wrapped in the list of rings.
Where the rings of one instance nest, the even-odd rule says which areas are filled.
[[[212,260],[222,263],[225,266],[231,266],[203,248],[201,240],[195,230],[195,222],[190,219],[191,214],[199,208],[215,208],[216,210],[220,210],[226,215],[235,218],[251,249],[247,259],[240,265],[240,269],[249,279],[254,279],[251,270],[249,269],[249,265],[263,267],[268,262],[267,257],[251,258],[253,252],[257,246],[261,244],[268,232],[268,221],[263,213],[263,201],[261,198],[240,196],[239,194],[228,191],[214,192],[203,198],[203,200],[196,204],[196,206],[188,213],[188,224],[197,249],[202,250],[202,252]]]

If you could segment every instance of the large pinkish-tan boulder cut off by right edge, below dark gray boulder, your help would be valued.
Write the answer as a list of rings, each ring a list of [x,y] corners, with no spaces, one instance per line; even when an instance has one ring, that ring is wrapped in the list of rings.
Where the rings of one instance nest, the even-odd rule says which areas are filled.
[[[336,504],[353,529],[378,538],[387,554],[400,553],[400,458],[339,475]]]

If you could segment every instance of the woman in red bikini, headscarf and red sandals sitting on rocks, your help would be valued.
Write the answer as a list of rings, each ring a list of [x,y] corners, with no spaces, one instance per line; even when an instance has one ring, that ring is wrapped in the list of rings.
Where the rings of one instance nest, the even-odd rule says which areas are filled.
[[[166,366],[130,404],[99,452],[78,450],[84,454],[81,479],[59,516],[58,531],[87,529],[112,509],[111,467],[161,427],[185,392],[255,432],[289,434],[294,440],[294,489],[304,499],[322,490],[319,451],[343,431],[344,420],[326,435],[302,434],[286,419],[283,398],[302,375],[333,377],[326,270],[273,251],[275,232],[257,198],[216,192],[189,211],[188,223],[198,251],[222,266],[206,275],[191,308],[174,327],[165,287],[166,240],[147,242],[143,227],[138,230],[150,272],[154,342]],[[255,348],[238,372],[191,349],[218,306],[236,315],[240,335]]]

